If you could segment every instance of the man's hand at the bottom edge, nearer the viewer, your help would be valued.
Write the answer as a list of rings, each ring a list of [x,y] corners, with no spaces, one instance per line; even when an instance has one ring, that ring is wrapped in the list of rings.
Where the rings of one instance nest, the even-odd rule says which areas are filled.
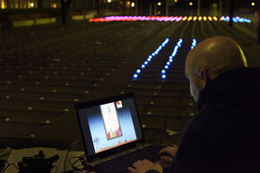
[[[133,164],[133,168],[128,167],[128,170],[132,173],[145,173],[148,170],[156,170],[160,173],[162,173],[163,169],[161,168],[160,164],[156,163],[152,163],[152,161],[149,160],[138,160],[136,162],[134,162]]]

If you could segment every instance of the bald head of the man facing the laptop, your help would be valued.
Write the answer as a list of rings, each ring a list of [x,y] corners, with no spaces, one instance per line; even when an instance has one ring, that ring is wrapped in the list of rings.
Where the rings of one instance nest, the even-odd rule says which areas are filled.
[[[186,56],[186,77],[195,101],[207,82],[232,69],[247,67],[247,60],[238,44],[223,36],[205,39]]]

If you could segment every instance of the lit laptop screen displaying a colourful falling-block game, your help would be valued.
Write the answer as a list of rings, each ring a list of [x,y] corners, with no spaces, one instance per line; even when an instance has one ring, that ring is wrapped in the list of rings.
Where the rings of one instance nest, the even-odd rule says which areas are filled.
[[[88,156],[143,139],[134,98],[78,110]]]

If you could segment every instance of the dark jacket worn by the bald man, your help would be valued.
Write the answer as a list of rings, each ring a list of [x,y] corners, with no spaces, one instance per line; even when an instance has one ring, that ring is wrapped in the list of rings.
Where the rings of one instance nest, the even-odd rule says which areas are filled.
[[[169,172],[260,172],[260,68],[207,83]]]

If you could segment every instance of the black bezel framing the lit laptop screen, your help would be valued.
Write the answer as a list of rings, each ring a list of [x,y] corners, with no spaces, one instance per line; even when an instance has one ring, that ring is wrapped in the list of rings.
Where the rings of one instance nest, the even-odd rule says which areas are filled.
[[[91,108],[91,107],[95,107],[95,106],[100,106],[102,104],[107,104],[107,103],[115,102],[115,101],[122,100],[122,99],[133,99],[134,100],[137,118],[138,118],[138,121],[139,121],[139,125],[141,126],[140,116],[139,116],[138,110],[136,108],[136,102],[135,102],[133,92],[129,92],[129,93],[126,93],[126,94],[121,94],[121,95],[117,95],[117,96],[113,96],[113,97],[109,97],[109,98],[105,98],[105,99],[96,99],[96,100],[86,101],[86,102],[82,102],[82,103],[78,103],[78,104],[74,105],[76,115],[77,115],[77,119],[78,119],[78,123],[80,125],[81,134],[82,134],[82,143],[83,143],[83,146],[84,146],[84,151],[86,153],[86,158],[87,158],[88,162],[91,162],[92,160],[97,159],[97,158],[100,158],[100,159],[106,158],[106,157],[110,156],[111,154],[116,153],[117,151],[125,151],[125,150],[128,150],[128,149],[135,147],[137,144],[144,143],[143,128],[141,126],[141,133],[142,133],[142,136],[143,136],[142,139],[136,140],[132,143],[126,143],[124,145],[117,146],[117,147],[112,148],[108,151],[102,151],[100,153],[94,153],[93,155],[90,155],[88,153],[87,146],[86,146],[86,143],[85,143],[85,136],[83,135],[83,131],[82,131],[82,123],[81,123],[81,120],[80,120],[80,115],[78,113],[79,112],[78,110],[80,110],[82,108]]]

